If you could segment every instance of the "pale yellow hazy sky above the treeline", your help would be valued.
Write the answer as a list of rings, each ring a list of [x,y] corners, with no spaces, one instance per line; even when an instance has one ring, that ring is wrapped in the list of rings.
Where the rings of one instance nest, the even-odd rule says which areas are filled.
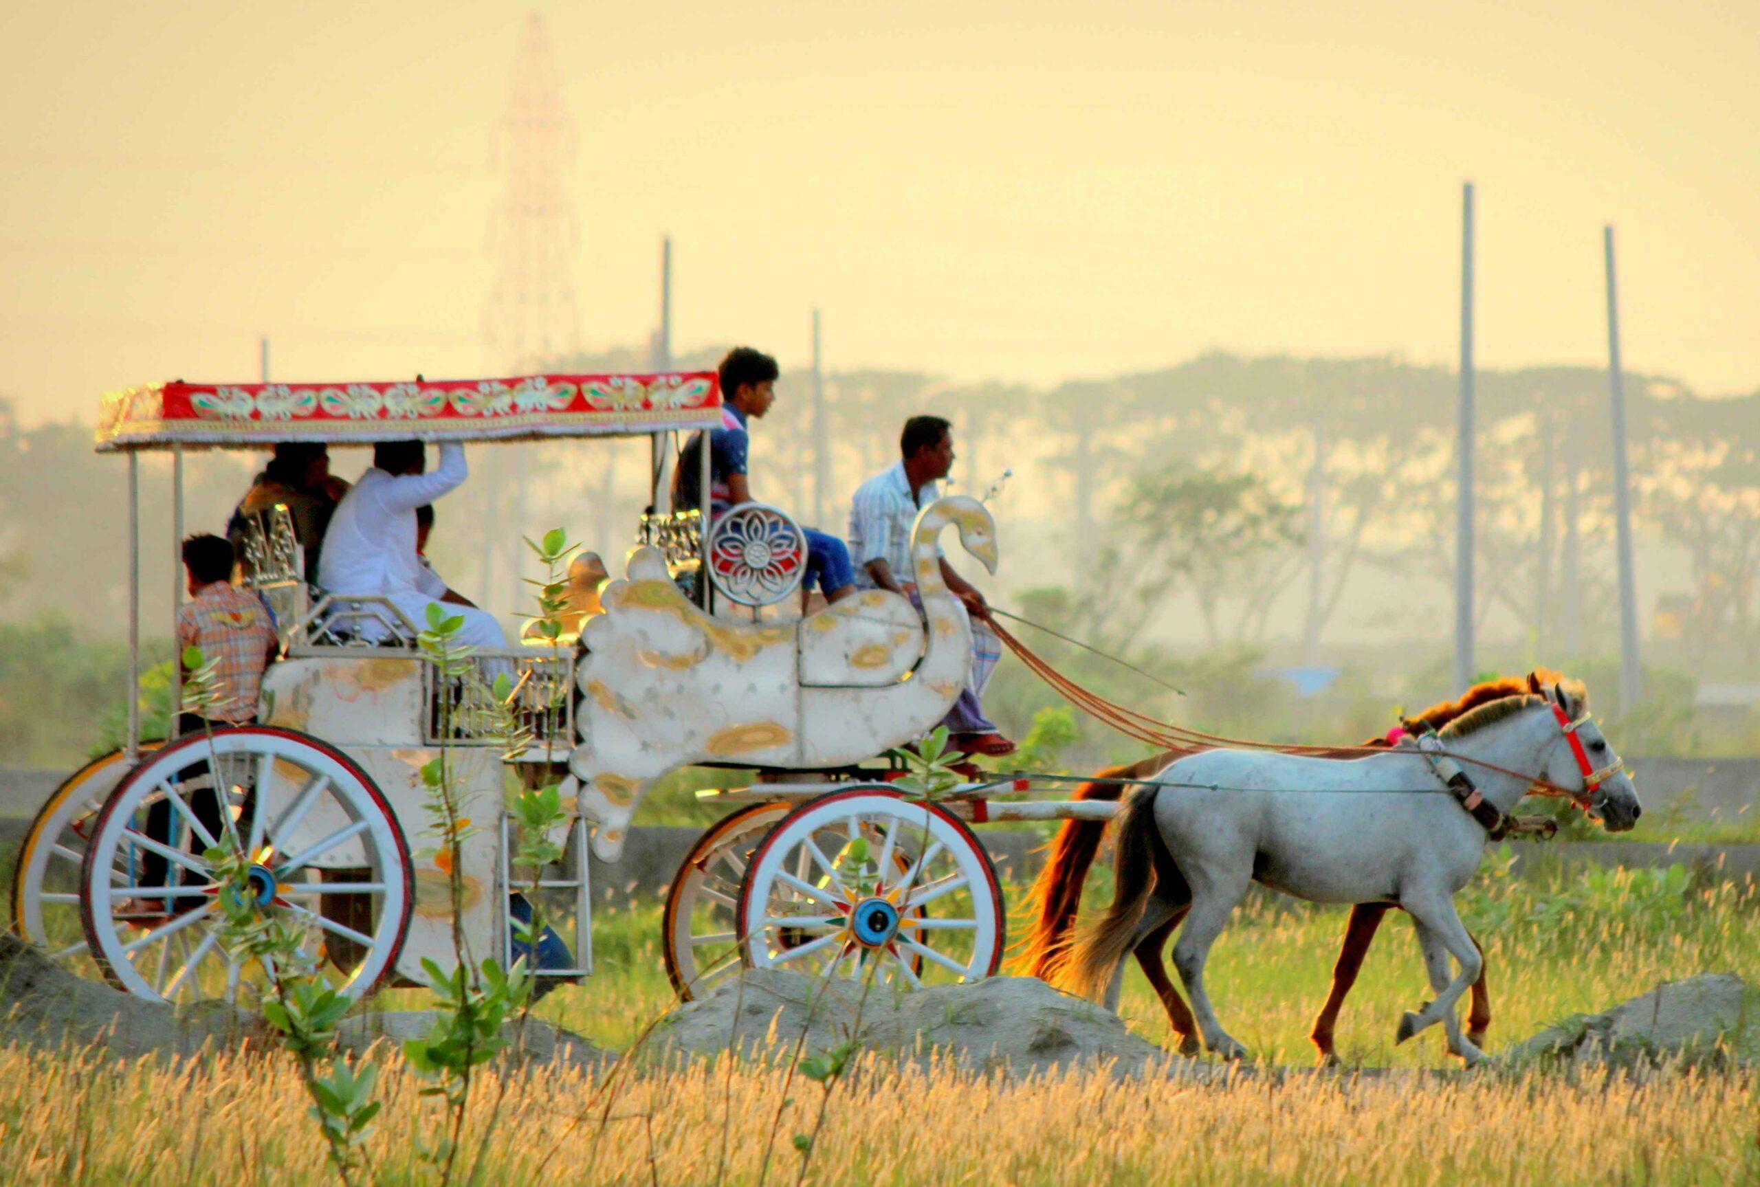
[[[519,5],[0,5],[0,394],[477,375]],[[588,348],[1051,383],[1206,348],[1760,385],[1760,4],[567,5]]]

